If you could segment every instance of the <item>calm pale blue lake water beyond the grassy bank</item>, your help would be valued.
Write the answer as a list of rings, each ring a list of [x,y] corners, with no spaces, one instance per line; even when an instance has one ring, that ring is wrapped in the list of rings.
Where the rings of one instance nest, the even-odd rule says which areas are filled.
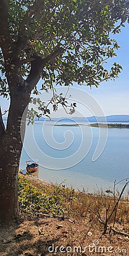
[[[108,129],[108,138],[102,154],[92,161],[101,130],[101,144],[104,146],[106,129],[89,127],[85,123],[71,126],[71,123],[37,122],[28,126],[20,168],[25,168],[28,159],[39,159],[37,175],[51,183],[62,183],[68,187],[94,192],[99,189],[113,189],[114,180],[129,177],[129,129]],[[70,125],[70,126],[68,126]],[[63,169],[64,168],[64,169]],[[122,183],[118,188],[123,187]]]

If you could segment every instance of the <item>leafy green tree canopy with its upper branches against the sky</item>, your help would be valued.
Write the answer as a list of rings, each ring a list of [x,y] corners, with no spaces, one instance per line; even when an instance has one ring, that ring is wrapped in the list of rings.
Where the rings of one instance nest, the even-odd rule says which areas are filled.
[[[74,81],[97,87],[117,77],[121,65],[108,71],[104,63],[116,56],[119,46],[110,34],[124,26],[127,5],[126,0],[1,1],[0,94],[10,94],[11,73],[19,69],[36,94],[39,77],[41,90]]]

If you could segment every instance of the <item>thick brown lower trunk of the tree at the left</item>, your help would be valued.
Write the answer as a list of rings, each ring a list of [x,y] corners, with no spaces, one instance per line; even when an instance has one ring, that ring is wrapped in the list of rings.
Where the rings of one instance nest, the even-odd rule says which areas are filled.
[[[0,144],[0,223],[18,219],[18,170],[25,133],[25,119],[30,94],[20,92],[11,98],[7,128]],[[24,114],[24,119],[23,118]],[[22,120],[21,120],[22,119]]]

